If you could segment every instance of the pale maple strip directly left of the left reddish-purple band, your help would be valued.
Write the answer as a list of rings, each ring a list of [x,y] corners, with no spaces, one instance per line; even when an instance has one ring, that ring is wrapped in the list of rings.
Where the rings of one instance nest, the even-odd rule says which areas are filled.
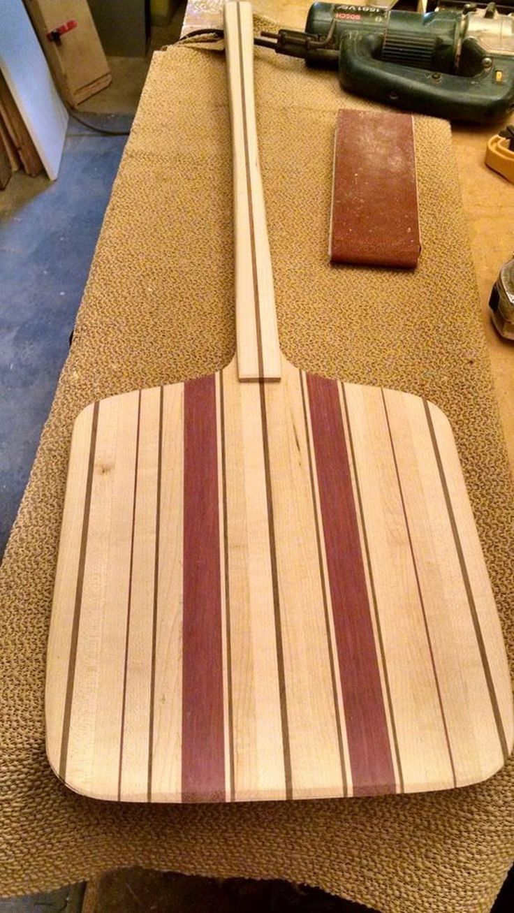
[[[155,668],[152,695],[153,802],[182,794],[184,384],[163,388],[162,479]]]

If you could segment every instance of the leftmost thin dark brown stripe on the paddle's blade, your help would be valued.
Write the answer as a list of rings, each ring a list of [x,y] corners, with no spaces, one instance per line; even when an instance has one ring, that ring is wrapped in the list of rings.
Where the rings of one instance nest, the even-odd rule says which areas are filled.
[[[82,517],[82,535],[80,537],[79,568],[77,572],[77,587],[75,590],[75,605],[73,608],[73,623],[71,625],[71,643],[69,645],[68,680],[66,684],[66,698],[64,703],[64,716],[62,722],[62,739],[60,745],[59,777],[66,781],[66,766],[68,763],[69,721],[71,719],[71,705],[73,704],[73,687],[75,685],[75,667],[77,665],[77,645],[79,643],[80,606],[82,604],[82,588],[84,586],[84,568],[86,566],[86,552],[88,550],[89,510],[91,507],[91,490],[93,487],[93,472],[95,468],[95,450],[97,446],[97,431],[99,423],[99,403],[93,406],[91,422],[91,438],[89,442],[88,477],[86,479],[86,496],[84,498],[84,515]]]

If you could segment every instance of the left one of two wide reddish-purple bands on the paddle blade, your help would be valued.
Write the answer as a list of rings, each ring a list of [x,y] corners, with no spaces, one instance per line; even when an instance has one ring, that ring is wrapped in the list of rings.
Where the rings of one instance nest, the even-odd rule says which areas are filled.
[[[225,802],[215,375],[184,383],[183,802]]]

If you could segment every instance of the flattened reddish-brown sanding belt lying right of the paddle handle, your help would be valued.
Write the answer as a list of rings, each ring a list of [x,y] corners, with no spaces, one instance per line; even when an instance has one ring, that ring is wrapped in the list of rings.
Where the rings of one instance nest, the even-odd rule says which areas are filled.
[[[414,268],[420,250],[412,116],[339,111],[330,261]]]

